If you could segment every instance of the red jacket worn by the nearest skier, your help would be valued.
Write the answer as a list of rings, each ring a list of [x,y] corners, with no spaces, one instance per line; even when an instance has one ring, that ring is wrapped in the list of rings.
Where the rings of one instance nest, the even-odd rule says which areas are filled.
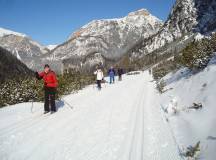
[[[41,72],[39,73],[39,77],[43,78],[45,87],[56,88],[58,86],[56,74],[53,71],[49,71],[48,73]]]

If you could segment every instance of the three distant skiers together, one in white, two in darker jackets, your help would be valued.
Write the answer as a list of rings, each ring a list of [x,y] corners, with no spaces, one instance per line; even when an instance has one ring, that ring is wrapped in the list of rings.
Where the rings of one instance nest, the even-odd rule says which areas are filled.
[[[122,68],[118,68],[117,69],[117,73],[116,70],[113,66],[110,67],[110,69],[108,70],[108,76],[109,76],[109,83],[115,83],[115,76],[118,75],[118,80],[121,81],[122,80],[122,75],[123,75],[123,69]],[[101,83],[105,82],[104,80],[104,74],[103,71],[100,67],[96,67],[96,71],[94,72],[94,74],[96,75],[96,80],[97,80],[97,88],[99,90],[101,90]]]

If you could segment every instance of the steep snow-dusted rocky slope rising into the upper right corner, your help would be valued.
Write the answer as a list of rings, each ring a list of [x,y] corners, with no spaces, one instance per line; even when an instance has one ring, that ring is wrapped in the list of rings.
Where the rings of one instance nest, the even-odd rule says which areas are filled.
[[[130,54],[143,56],[155,51],[164,54],[181,50],[197,33],[208,34],[216,29],[215,7],[215,0],[177,0],[159,32],[139,43]]]

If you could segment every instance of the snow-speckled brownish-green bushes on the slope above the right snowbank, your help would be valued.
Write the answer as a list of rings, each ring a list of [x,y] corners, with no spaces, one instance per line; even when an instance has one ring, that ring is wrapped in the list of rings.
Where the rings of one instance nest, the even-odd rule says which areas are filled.
[[[173,58],[161,61],[152,69],[155,80],[160,80],[168,73],[181,67],[188,67],[193,71],[204,69],[216,51],[216,34],[211,38],[201,39],[188,44],[188,46],[177,53]]]

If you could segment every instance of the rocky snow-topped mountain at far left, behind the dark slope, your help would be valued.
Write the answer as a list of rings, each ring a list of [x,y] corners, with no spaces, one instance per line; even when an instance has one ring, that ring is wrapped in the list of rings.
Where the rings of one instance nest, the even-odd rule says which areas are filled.
[[[25,34],[0,28],[0,47],[7,49],[20,61],[33,70],[40,70],[49,63],[61,73],[61,62],[49,58],[50,50]],[[54,47],[54,46],[52,46]]]

